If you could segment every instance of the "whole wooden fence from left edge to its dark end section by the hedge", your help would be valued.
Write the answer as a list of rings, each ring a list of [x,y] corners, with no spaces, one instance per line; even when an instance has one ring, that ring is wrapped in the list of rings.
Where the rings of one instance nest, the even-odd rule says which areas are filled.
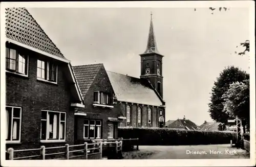
[[[84,144],[80,145],[69,145],[59,147],[48,147],[41,146],[38,149],[25,149],[25,150],[14,150],[13,148],[9,148],[7,150],[9,160],[16,159],[51,159],[51,156],[58,155],[58,158],[52,159],[72,159],[77,157],[83,157],[84,159],[88,159],[88,155],[99,155],[99,159],[102,159],[102,147],[105,149],[111,148],[114,150],[114,154],[122,154],[123,148],[132,149],[134,146],[137,146],[137,150],[139,149],[138,138],[130,138],[130,139],[97,139],[93,140],[92,144],[88,144],[88,142],[84,142]],[[124,145],[123,145],[124,144]],[[112,149],[113,148],[113,149]],[[63,151],[58,152],[58,149],[62,149]],[[52,150],[52,152],[51,152]],[[15,153],[18,152],[31,152],[38,151],[37,155],[30,156],[21,156],[15,157]]]

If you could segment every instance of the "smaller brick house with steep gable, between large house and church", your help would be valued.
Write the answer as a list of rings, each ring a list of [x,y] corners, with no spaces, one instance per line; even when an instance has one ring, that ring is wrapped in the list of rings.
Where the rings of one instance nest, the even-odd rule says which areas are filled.
[[[85,103],[76,108],[75,140],[117,138],[124,117],[103,64],[74,66],[74,72]]]

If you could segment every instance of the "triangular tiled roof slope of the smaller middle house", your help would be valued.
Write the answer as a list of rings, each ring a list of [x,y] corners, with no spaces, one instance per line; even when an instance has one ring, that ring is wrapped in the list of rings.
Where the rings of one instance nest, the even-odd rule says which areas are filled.
[[[83,97],[86,96],[88,89],[91,87],[99,69],[102,66],[103,64],[73,66],[74,73]]]

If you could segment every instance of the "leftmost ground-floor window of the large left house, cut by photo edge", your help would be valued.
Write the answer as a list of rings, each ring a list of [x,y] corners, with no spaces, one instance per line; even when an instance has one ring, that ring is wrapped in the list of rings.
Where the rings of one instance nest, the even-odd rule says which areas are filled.
[[[6,140],[20,141],[22,108],[6,106]]]

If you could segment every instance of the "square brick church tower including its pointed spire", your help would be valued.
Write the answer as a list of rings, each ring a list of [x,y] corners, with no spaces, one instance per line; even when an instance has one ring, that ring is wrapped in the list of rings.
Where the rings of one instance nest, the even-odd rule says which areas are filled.
[[[140,54],[141,57],[141,79],[147,79],[163,98],[163,76],[162,59],[163,55],[157,50],[156,37],[153,29],[152,13],[150,21],[150,32],[148,33],[146,51]]]

